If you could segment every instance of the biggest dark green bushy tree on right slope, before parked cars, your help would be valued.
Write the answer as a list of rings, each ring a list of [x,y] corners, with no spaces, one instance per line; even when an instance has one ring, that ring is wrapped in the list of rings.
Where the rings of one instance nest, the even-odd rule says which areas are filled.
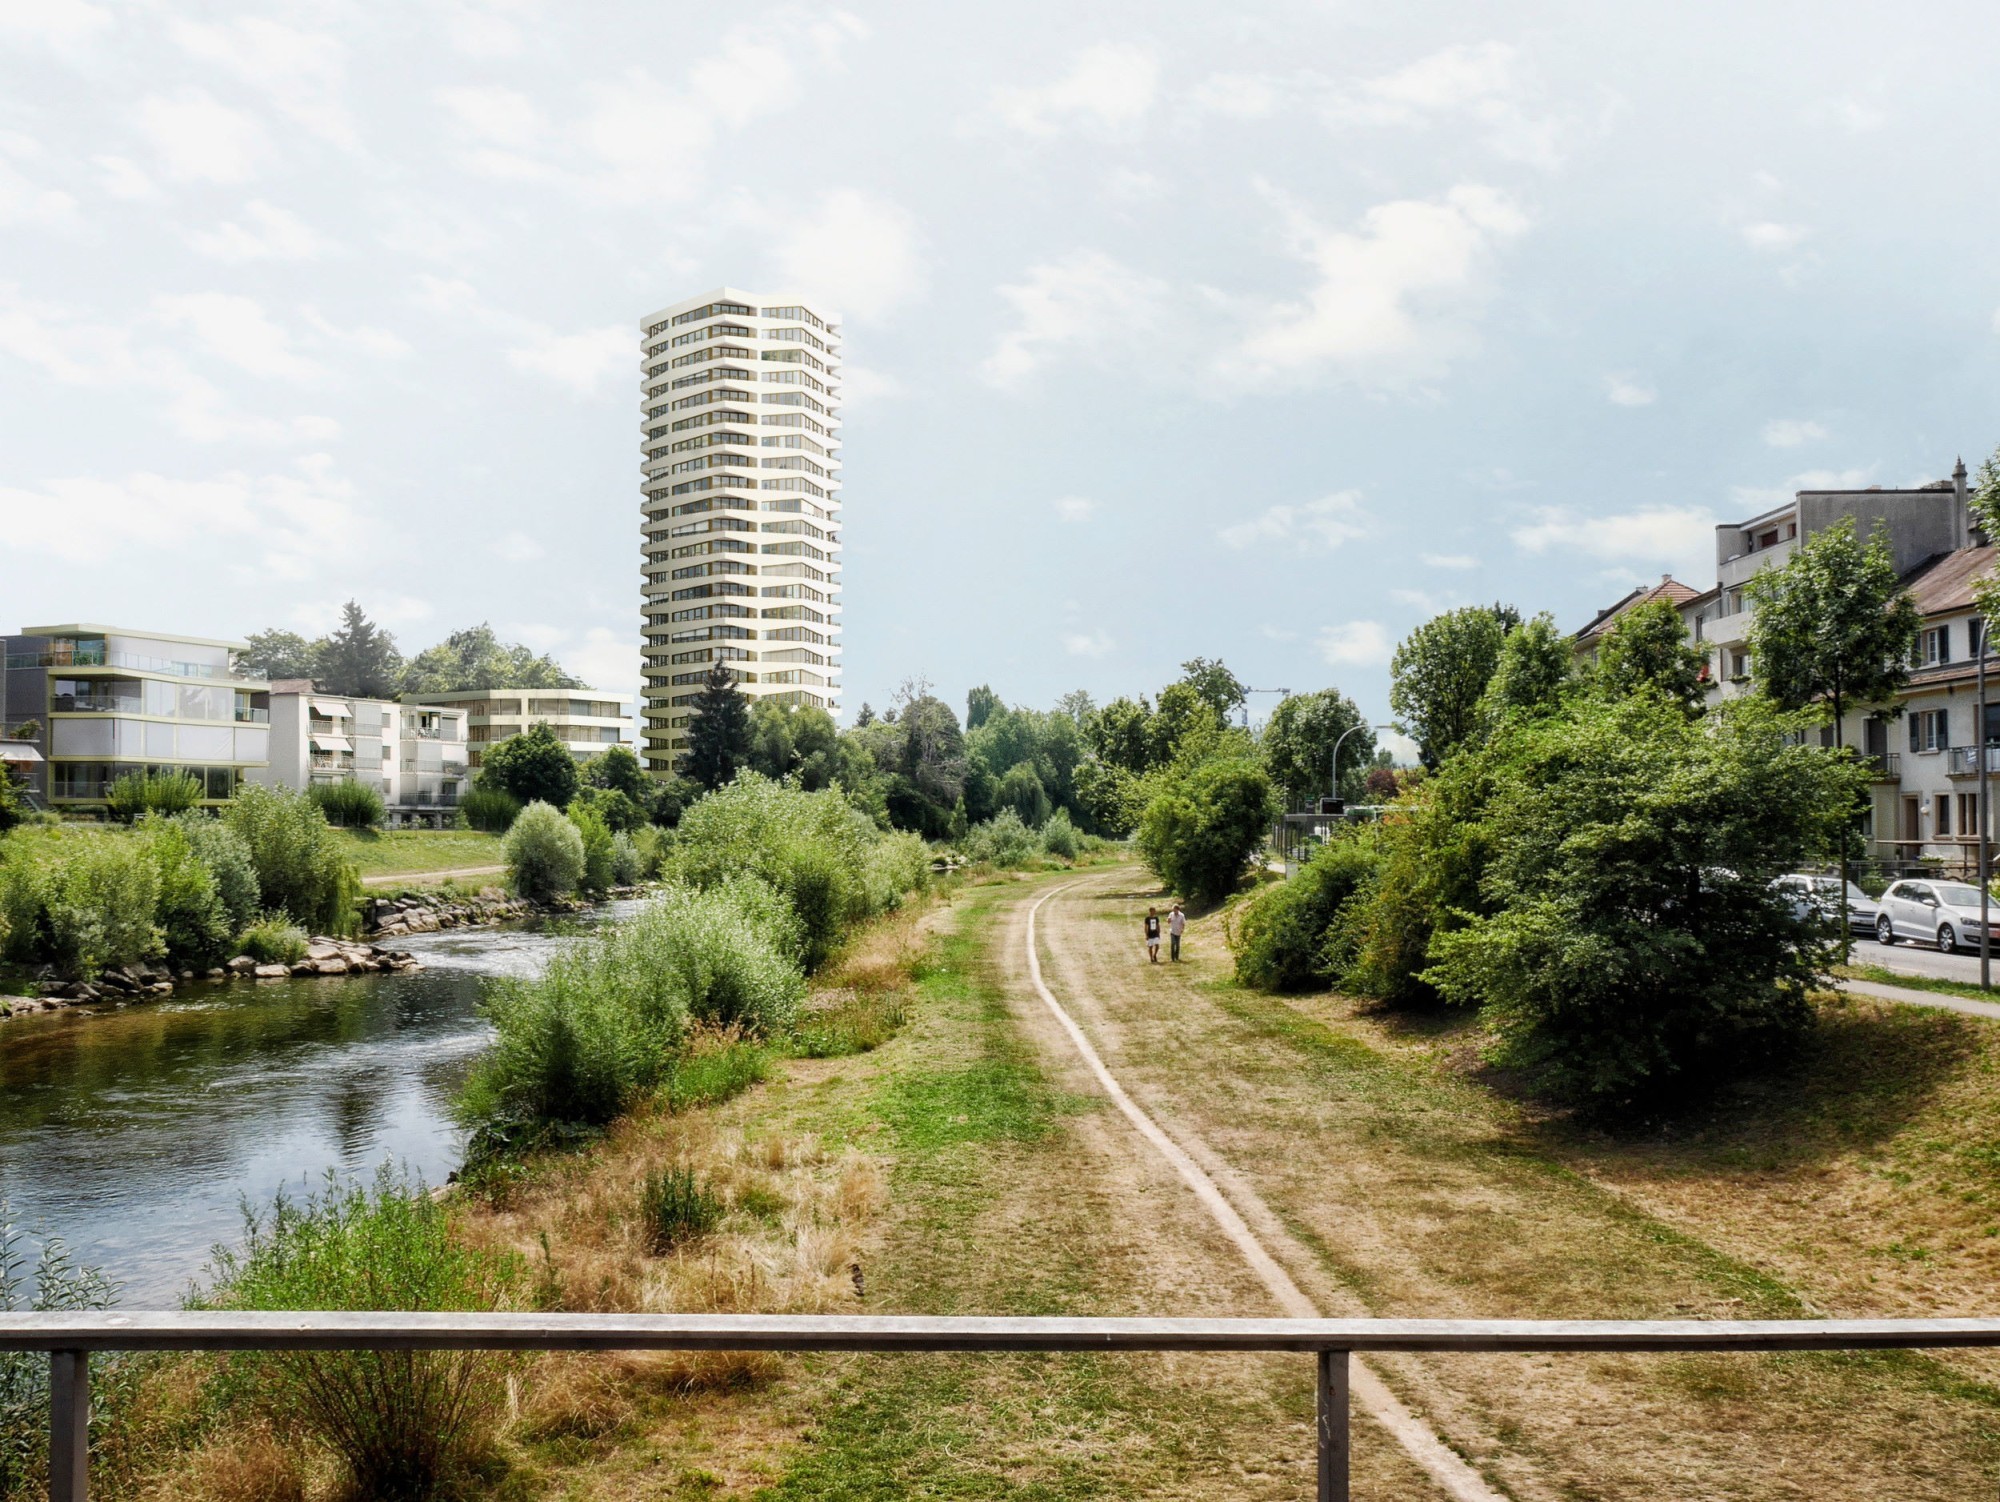
[[[1796,1042],[1834,948],[1772,880],[1842,844],[1866,782],[1802,726],[1756,698],[1696,720],[1592,696],[1502,728],[1488,912],[1436,934],[1426,972],[1480,1008],[1498,1062],[1624,1108]]]

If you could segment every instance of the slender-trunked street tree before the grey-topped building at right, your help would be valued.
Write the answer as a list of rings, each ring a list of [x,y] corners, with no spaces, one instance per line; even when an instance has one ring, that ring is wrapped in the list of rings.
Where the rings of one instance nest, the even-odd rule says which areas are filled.
[[[1778,708],[1824,700],[1834,744],[1844,746],[1848,710],[1886,706],[1910,682],[1918,614],[1896,578],[1888,528],[1862,546],[1854,518],[1814,534],[1780,568],[1744,584],[1750,660],[1758,688]]]

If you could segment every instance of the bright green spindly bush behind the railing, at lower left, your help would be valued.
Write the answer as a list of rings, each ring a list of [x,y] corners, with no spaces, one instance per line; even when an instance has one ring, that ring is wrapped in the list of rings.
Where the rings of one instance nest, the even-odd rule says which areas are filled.
[[[448,1210],[388,1166],[374,1186],[280,1194],[218,1246],[218,1310],[492,1310],[508,1264],[452,1236]],[[456,1492],[490,1442],[498,1356],[464,1350],[282,1352],[236,1358],[232,1392],[280,1430],[330,1450],[348,1494],[416,1502]]]

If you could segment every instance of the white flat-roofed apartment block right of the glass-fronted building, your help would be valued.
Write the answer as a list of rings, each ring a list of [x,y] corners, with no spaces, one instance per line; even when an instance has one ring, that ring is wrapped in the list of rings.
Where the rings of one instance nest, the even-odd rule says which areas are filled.
[[[306,790],[366,782],[390,826],[446,826],[466,790],[464,708],[322,694],[280,678],[270,692],[270,766],[250,782]]]

